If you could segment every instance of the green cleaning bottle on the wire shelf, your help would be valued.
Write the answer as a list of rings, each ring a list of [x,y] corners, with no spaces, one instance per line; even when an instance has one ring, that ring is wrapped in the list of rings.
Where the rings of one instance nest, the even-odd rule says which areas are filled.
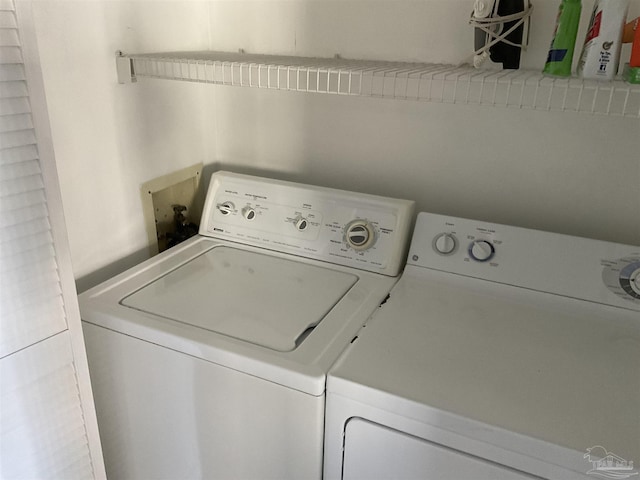
[[[542,70],[543,73],[559,77],[571,75],[571,62],[573,61],[581,12],[581,0],[562,0],[558,9],[551,47]]]

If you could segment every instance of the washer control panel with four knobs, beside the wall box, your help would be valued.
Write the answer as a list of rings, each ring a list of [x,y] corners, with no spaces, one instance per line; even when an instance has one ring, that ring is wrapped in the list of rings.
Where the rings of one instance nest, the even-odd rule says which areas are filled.
[[[398,275],[414,202],[217,172],[200,234]]]

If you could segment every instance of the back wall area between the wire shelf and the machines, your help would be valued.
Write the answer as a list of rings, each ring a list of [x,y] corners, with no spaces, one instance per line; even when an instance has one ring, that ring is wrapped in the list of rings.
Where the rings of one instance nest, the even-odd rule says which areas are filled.
[[[220,162],[411,198],[435,213],[640,244],[637,121],[278,93],[218,98]]]

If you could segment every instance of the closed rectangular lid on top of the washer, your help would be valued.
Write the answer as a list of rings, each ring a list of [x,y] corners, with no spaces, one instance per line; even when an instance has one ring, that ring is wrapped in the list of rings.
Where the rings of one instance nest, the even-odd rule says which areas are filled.
[[[215,247],[127,296],[122,305],[281,352],[356,283],[355,275]]]

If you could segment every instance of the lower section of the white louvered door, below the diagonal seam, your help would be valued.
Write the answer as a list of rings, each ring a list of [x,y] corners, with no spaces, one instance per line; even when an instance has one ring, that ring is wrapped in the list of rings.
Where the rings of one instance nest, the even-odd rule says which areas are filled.
[[[0,361],[0,478],[94,477],[69,332]]]

